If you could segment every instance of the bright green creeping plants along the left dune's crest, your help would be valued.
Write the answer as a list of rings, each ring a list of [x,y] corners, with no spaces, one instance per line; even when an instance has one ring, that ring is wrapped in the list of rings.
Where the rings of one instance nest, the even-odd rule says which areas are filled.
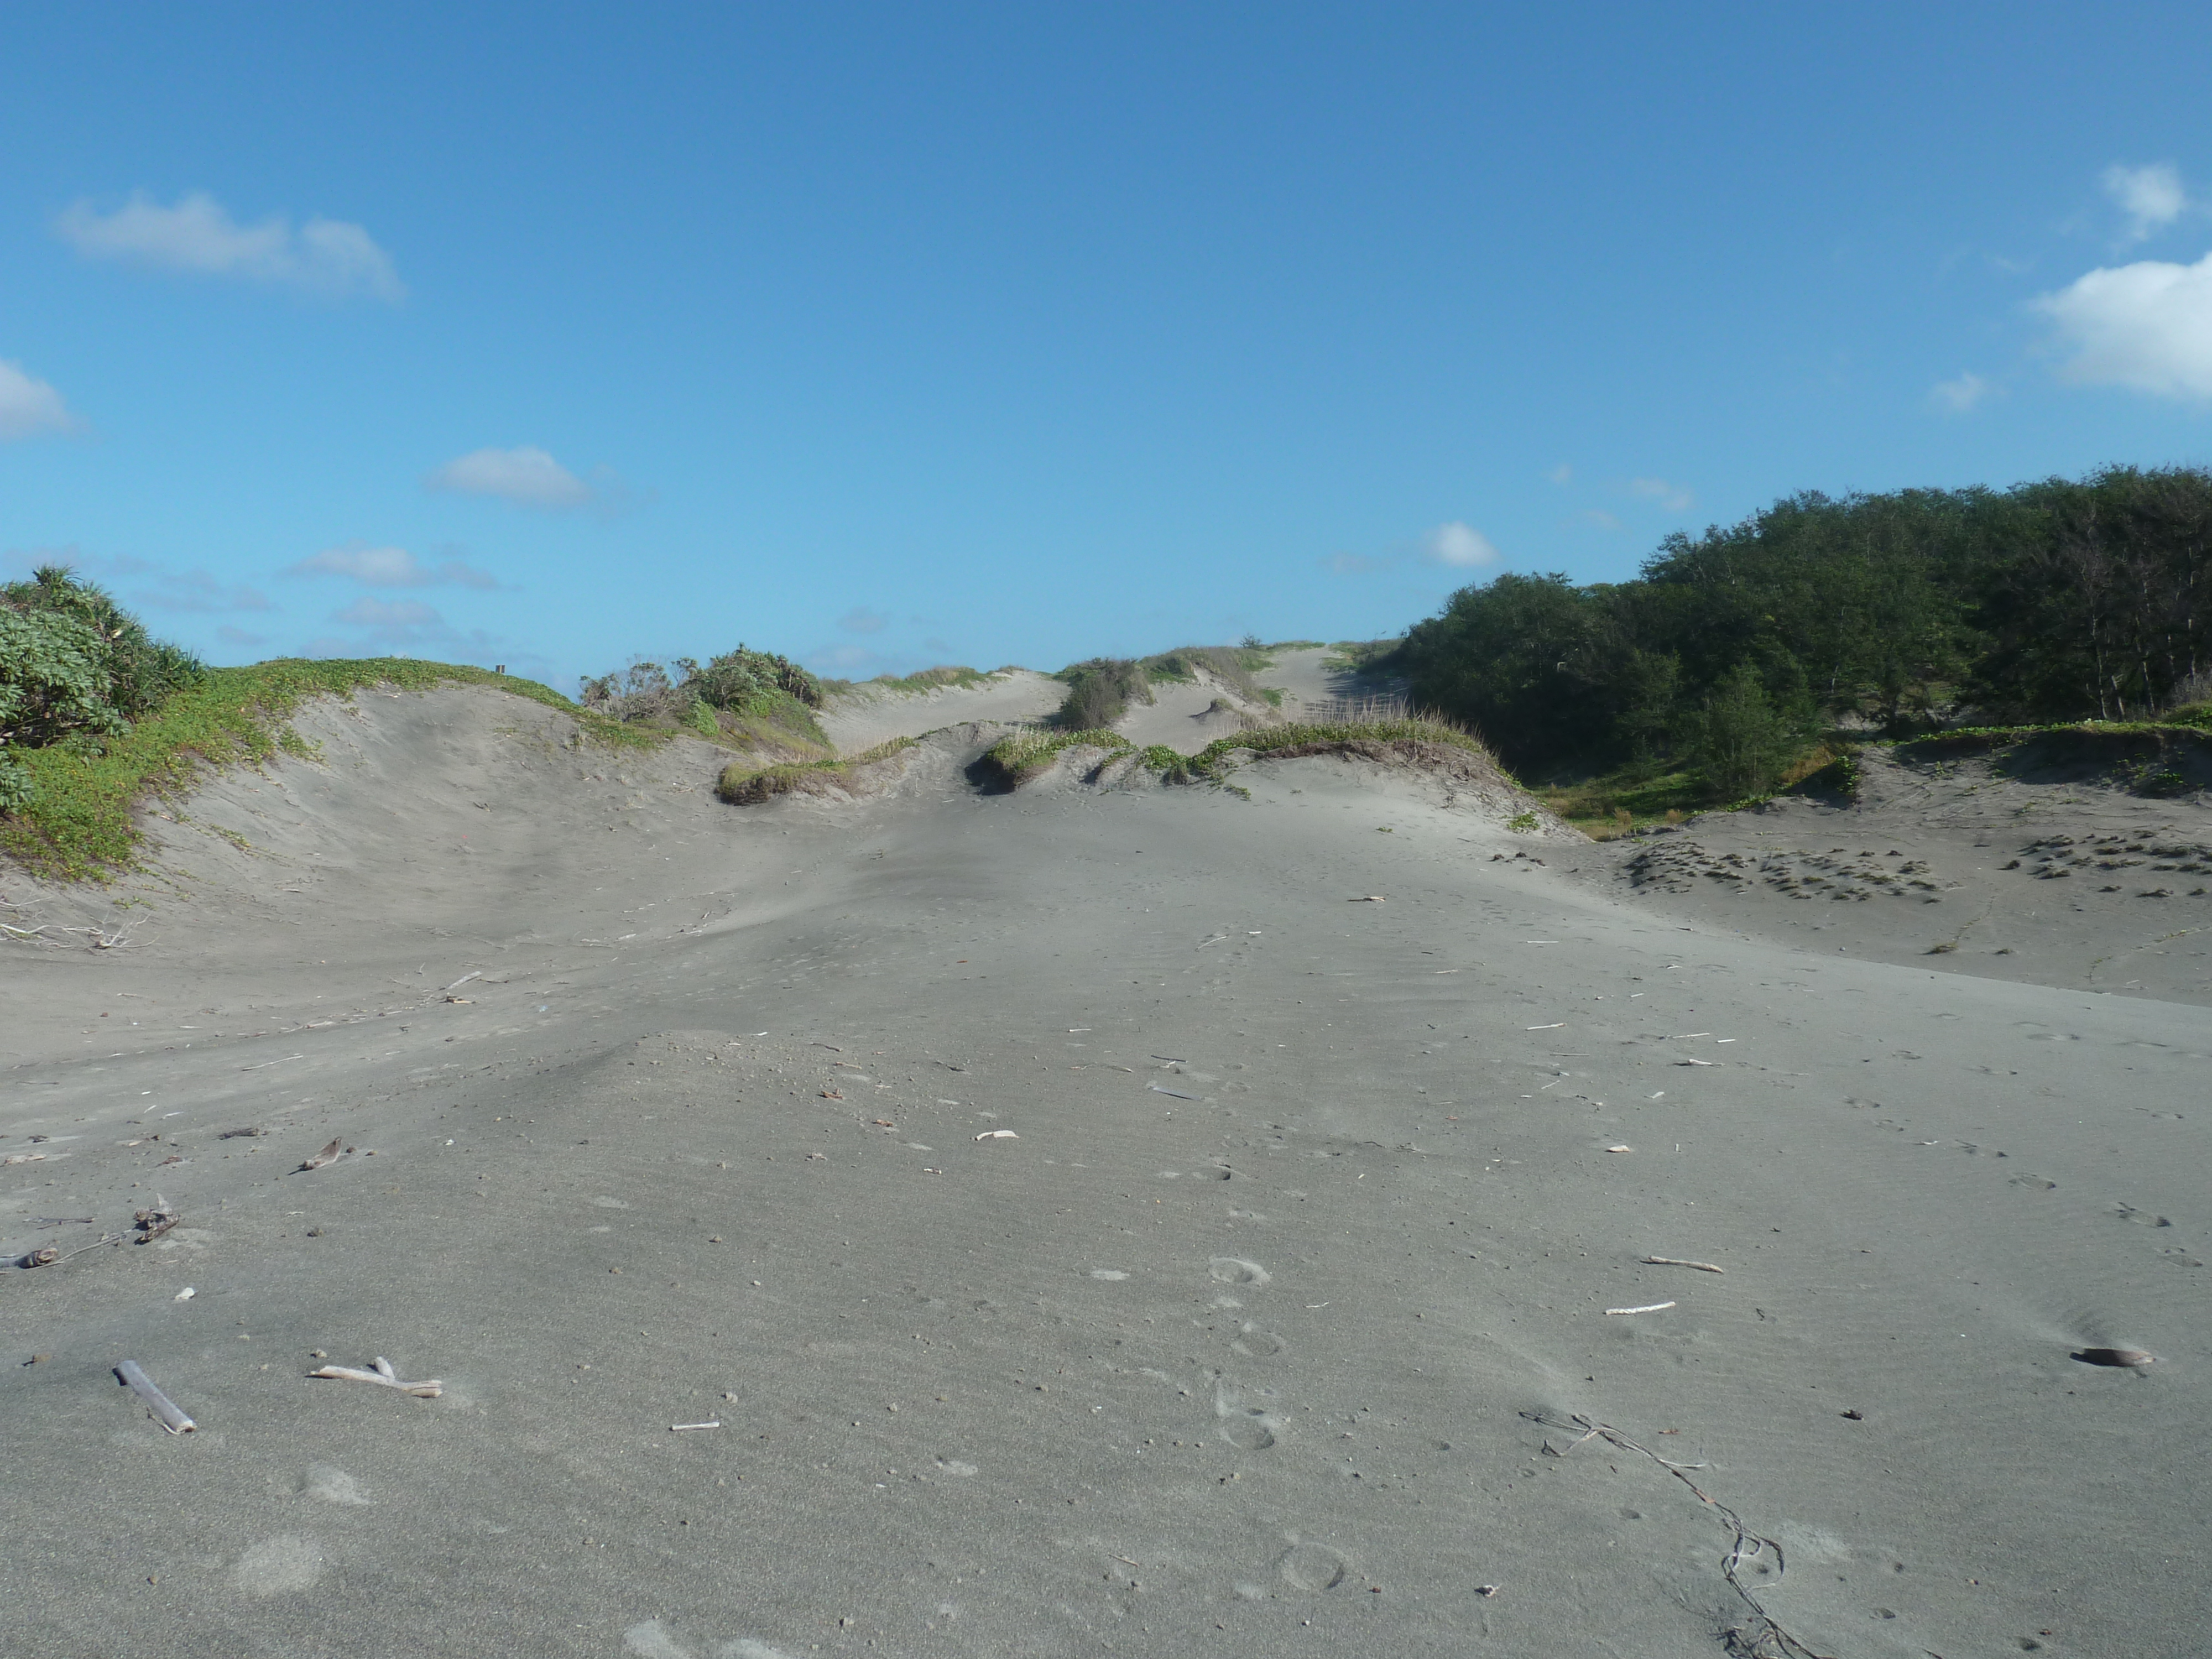
[[[22,805],[0,814],[0,849],[62,880],[108,878],[131,865],[139,830],[133,807],[148,794],[186,787],[201,768],[265,761],[279,750],[310,754],[288,717],[303,701],[363,686],[431,690],[495,686],[571,714],[599,743],[653,748],[661,739],[591,714],[551,686],[465,664],[365,657],[352,661],[279,659],[252,668],[206,668],[186,690],[122,732],[75,734],[15,757],[31,783]]]

